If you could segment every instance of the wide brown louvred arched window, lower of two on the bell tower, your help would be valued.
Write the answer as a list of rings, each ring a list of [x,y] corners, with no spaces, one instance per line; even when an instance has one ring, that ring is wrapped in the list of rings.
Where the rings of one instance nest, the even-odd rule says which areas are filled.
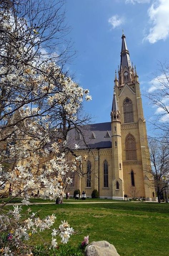
[[[126,160],[137,160],[135,139],[133,135],[128,134],[125,139]]]

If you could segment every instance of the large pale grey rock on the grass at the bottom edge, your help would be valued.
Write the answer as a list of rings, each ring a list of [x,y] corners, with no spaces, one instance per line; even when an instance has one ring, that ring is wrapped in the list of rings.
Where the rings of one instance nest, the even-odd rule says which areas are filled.
[[[106,241],[90,243],[85,249],[85,256],[120,256],[114,245]]]

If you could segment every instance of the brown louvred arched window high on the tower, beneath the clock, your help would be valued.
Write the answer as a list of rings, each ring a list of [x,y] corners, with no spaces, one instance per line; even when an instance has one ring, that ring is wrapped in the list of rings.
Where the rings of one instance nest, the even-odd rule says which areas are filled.
[[[124,113],[124,123],[134,122],[133,103],[129,98],[125,98],[125,100],[123,101],[123,113]]]

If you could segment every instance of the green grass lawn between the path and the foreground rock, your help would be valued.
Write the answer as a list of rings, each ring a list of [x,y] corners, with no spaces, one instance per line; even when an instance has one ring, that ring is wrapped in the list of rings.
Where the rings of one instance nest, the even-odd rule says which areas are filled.
[[[29,207],[34,212],[40,210],[41,218],[55,213],[55,228],[61,220],[68,220],[76,231],[70,244],[77,245],[89,235],[90,242],[106,240],[112,243],[120,256],[169,255],[169,204],[127,202]],[[50,232],[42,234],[50,242]],[[40,243],[36,235],[33,239],[34,244]]]

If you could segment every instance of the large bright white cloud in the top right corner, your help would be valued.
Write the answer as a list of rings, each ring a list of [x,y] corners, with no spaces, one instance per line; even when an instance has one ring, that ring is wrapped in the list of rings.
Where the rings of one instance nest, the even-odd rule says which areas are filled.
[[[144,39],[150,43],[165,40],[169,36],[169,0],[154,0],[148,9],[151,28]]]

